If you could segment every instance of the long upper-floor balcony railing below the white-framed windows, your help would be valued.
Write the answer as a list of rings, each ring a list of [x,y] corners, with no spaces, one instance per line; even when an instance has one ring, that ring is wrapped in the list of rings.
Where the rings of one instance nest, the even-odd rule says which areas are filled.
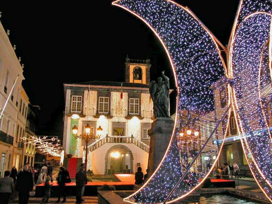
[[[121,117],[133,117],[138,116],[142,118],[154,118],[153,111],[129,111],[129,110],[117,110],[117,109],[88,109],[88,108],[66,108],[65,115],[79,114],[85,117],[86,115],[106,115],[106,116],[121,116]]]

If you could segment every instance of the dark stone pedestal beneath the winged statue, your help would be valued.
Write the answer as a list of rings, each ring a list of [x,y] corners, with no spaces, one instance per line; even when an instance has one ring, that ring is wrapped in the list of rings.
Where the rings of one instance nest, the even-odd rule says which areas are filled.
[[[172,118],[158,117],[148,130],[150,136],[150,148],[148,156],[148,177],[150,177],[159,166],[173,133],[174,121]]]

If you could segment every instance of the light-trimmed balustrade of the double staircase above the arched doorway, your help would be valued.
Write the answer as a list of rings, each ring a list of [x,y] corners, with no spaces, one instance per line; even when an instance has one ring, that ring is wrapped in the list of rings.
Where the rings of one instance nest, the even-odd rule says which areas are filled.
[[[135,144],[136,146],[140,147],[145,152],[149,153],[149,146],[147,144],[145,144],[144,142],[138,140],[137,138],[134,138],[133,135],[131,135],[131,137],[106,135],[105,137],[100,138],[99,140],[90,144],[88,146],[89,151],[92,152],[92,151],[96,150],[98,147],[101,147],[105,143],[131,143],[131,144]]]

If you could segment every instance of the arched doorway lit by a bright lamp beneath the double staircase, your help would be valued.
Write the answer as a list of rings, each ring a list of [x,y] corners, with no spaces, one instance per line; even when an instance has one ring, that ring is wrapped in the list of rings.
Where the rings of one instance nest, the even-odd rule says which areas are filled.
[[[130,173],[133,171],[133,155],[125,145],[118,144],[109,148],[105,162],[105,169],[108,174]]]

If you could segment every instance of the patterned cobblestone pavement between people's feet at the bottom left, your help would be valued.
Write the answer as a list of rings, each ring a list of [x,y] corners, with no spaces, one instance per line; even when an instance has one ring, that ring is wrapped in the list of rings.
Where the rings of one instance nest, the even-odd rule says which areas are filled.
[[[58,198],[50,198],[48,203],[56,203]],[[97,196],[83,196],[83,201],[82,203],[98,203],[98,197]],[[35,197],[30,197],[28,200],[28,203],[41,203],[42,198],[35,198]],[[60,199],[60,203],[62,203],[63,199]],[[11,203],[19,203],[18,198],[15,199],[15,201]],[[66,202],[65,203],[76,203],[76,197],[75,196],[67,196],[66,197]]]

